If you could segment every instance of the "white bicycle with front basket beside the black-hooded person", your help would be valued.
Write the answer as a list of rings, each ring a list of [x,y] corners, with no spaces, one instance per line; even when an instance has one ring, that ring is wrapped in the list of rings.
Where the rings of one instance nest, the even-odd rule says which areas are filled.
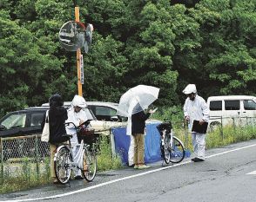
[[[81,129],[86,128],[89,123],[90,121],[85,121],[79,127],[76,127],[72,122],[65,124],[72,124],[76,127],[77,134],[79,134]],[[67,134],[67,136],[70,139],[72,137],[70,134]],[[95,135],[93,135],[93,138],[95,138]],[[73,155],[70,140],[68,145],[57,147],[57,153],[55,153],[54,156],[54,170],[57,180],[61,184],[66,184],[71,179],[71,171],[77,168],[81,170],[84,179],[87,181],[91,182],[95,178],[98,167],[95,143],[92,143],[91,145],[86,144],[82,138],[81,143],[77,147],[79,147],[77,155]]]

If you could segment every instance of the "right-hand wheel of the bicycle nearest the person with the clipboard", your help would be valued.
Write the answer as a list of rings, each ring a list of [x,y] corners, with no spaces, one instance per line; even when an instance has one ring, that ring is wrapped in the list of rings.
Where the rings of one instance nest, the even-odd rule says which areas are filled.
[[[170,148],[172,163],[179,163],[185,157],[185,150],[182,142],[175,136],[172,138],[172,147]]]

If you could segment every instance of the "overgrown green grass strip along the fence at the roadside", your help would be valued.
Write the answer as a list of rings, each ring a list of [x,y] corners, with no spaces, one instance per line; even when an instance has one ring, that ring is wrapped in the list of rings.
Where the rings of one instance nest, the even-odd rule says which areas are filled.
[[[170,112],[170,110],[167,110],[167,112]],[[165,117],[168,117],[168,114],[165,114],[165,116],[156,114],[156,117],[160,117],[160,120],[163,120]],[[185,143],[186,148],[192,151],[191,134],[185,131],[183,122],[180,119],[174,118],[173,120],[175,135]],[[220,127],[206,134],[206,149],[223,147],[235,142],[255,138],[256,127],[254,126],[233,127],[230,125],[223,128]],[[33,186],[42,186],[51,183],[50,158],[45,158],[38,164],[26,158],[22,159],[22,163],[20,162],[19,160],[13,161],[12,163],[3,163],[3,174],[0,169],[0,193],[17,192]],[[15,166],[17,166],[17,171],[11,170]],[[100,153],[98,153],[98,171],[115,170],[121,167],[121,158],[119,156],[112,157],[110,139],[104,136],[100,142]],[[17,176],[13,176],[13,173]]]

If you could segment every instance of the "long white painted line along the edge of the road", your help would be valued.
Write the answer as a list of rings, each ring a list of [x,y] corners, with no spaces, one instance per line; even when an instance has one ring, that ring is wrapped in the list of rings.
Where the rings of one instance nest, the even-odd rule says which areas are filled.
[[[236,149],[232,149],[232,150],[229,150],[229,151],[226,151],[226,152],[223,152],[223,153],[215,153],[215,154],[212,154],[210,156],[205,157],[205,159],[209,159],[209,158],[219,156],[219,155],[223,155],[223,154],[226,154],[226,153],[236,152],[236,151],[239,151],[239,150],[242,150],[242,149],[246,149],[246,148],[249,148],[249,147],[255,147],[255,146],[256,146],[256,144],[253,144],[253,145],[246,146],[246,147],[239,147],[239,148],[236,148]],[[172,166],[160,167],[158,169],[147,171],[147,172],[144,172],[144,173],[138,173],[138,174],[134,174],[134,175],[127,176],[127,177],[124,177],[124,178],[120,178],[120,179],[113,179],[111,181],[98,184],[96,186],[90,186],[90,187],[87,187],[87,188],[84,188],[84,189],[79,189],[79,190],[73,191],[73,192],[66,192],[66,193],[63,193],[63,194],[57,194],[57,195],[54,195],[54,196],[51,196],[51,197],[42,197],[42,198],[35,198],[35,199],[3,200],[3,201],[4,202],[22,202],[22,201],[35,201],[35,200],[43,200],[43,199],[61,198],[61,197],[64,197],[64,196],[70,196],[70,195],[78,193],[78,192],[85,192],[85,191],[88,191],[88,190],[91,190],[91,189],[96,189],[96,188],[101,187],[101,186],[107,186],[107,185],[116,183],[118,181],[123,181],[123,180],[126,180],[126,179],[133,179],[133,178],[137,178],[139,176],[143,176],[143,175],[150,174],[150,173],[156,173],[158,171],[162,171],[162,170],[169,169],[169,168],[172,168],[172,167],[182,166],[182,165],[185,165],[185,164],[188,164],[188,163],[192,163],[192,161],[191,160],[186,160],[184,162],[181,162],[179,164],[175,164],[175,165],[172,165]],[[0,202],[3,202],[3,201],[0,201]]]

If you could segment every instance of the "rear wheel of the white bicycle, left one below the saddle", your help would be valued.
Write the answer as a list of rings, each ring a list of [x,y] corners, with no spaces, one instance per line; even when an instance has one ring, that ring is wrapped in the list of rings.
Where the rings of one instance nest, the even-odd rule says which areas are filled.
[[[54,170],[61,184],[66,184],[71,179],[71,161],[71,153],[67,147],[58,150],[54,159]]]

